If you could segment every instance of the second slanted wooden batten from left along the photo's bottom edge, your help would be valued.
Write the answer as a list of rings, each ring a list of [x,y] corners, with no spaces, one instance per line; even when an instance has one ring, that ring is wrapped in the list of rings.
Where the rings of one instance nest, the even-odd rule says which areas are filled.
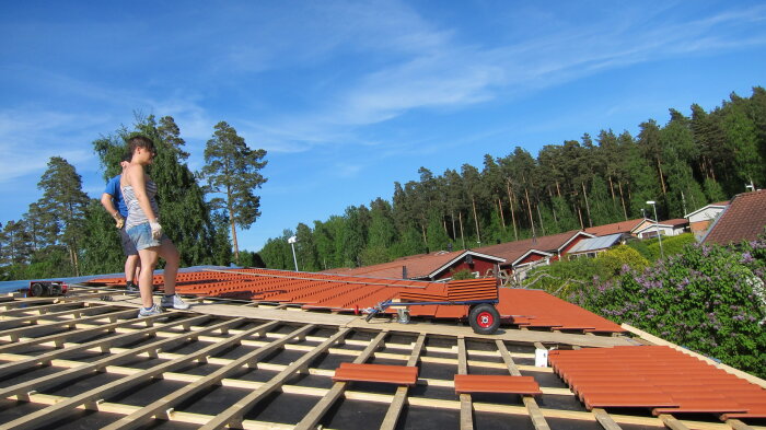
[[[232,361],[228,365],[218,369],[213,373],[201,377],[195,381],[194,383],[184,386],[181,390],[176,390],[175,392],[151,403],[150,405],[142,407],[141,409],[126,417],[123,417],[118,421],[113,422],[104,429],[136,429],[143,426],[147,421],[150,421],[153,417],[160,418],[160,415],[164,411],[175,407],[176,405],[188,399],[195,394],[204,391],[205,388],[211,385],[219,384],[221,380],[223,380],[227,375],[234,373],[243,365],[252,365],[255,361],[259,360],[264,356],[271,353],[274,350],[282,347],[290,340],[300,338],[301,336],[305,335],[307,332],[314,328],[314,325],[305,325],[303,327],[300,327],[280,339],[272,340],[271,342],[256,349],[255,351],[251,351],[242,356],[241,358]]]

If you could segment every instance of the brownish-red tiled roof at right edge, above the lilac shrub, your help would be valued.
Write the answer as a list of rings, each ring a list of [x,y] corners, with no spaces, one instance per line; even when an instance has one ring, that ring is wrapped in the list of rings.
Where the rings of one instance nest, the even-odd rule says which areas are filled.
[[[766,226],[766,190],[759,189],[734,196],[718,220],[708,230],[703,243],[728,245],[753,241]]]

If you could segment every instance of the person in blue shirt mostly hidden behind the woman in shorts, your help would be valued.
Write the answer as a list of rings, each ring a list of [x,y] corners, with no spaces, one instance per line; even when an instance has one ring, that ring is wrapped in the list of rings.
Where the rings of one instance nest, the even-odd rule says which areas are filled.
[[[130,159],[132,154],[126,153],[119,162],[119,165],[125,172],[125,167],[130,164]],[[129,292],[138,292],[138,286],[135,279],[138,277],[138,271],[140,270],[140,258],[138,257],[138,251],[136,245],[132,243],[128,234],[125,232],[125,219],[128,217],[128,207],[125,205],[125,199],[123,198],[123,191],[119,189],[119,178],[121,174],[113,177],[106,183],[106,189],[104,194],[101,195],[101,205],[104,209],[114,218],[115,226],[119,230],[119,237],[123,242],[123,252],[127,257],[125,259],[125,280],[127,283],[127,290]]]

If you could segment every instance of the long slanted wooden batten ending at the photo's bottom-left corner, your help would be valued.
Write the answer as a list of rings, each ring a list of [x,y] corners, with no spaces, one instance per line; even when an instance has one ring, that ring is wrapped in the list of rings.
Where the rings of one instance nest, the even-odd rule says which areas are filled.
[[[228,322],[229,323],[229,322]],[[175,369],[179,369],[184,365],[189,364],[193,361],[199,360],[199,359],[205,359],[208,356],[214,355],[231,345],[234,345],[240,339],[245,338],[252,334],[260,333],[263,332],[266,327],[272,327],[277,325],[278,322],[270,322],[263,324],[258,327],[254,327],[247,332],[244,332],[240,335],[232,336],[231,338],[223,339],[217,344],[210,345],[208,347],[205,347],[198,351],[195,351],[193,353],[186,355],[182,358],[178,358],[176,360],[172,360],[170,362],[164,362],[158,365],[154,365],[150,369],[147,369],[140,373],[137,373],[135,375],[126,376],[123,379],[119,379],[117,381],[111,382],[108,384],[102,385],[100,387],[90,390],[85,393],[82,393],[80,395],[77,395],[74,397],[70,397],[67,400],[57,403],[56,405],[49,406],[45,409],[37,410],[35,412],[28,414],[24,417],[18,418],[11,422],[8,422],[4,426],[8,426],[8,428],[12,429],[28,429],[28,428],[36,428],[39,427],[42,422],[47,422],[50,420],[56,420],[65,416],[66,414],[70,412],[73,408],[88,404],[88,403],[97,403],[100,399],[104,397],[108,397],[112,395],[115,395],[117,393],[125,392],[127,390],[131,390],[132,387],[144,383],[146,381],[149,381],[153,377],[158,377],[162,375],[164,372],[170,372]],[[194,337],[194,334],[186,334],[186,336],[192,336]],[[0,429],[3,427],[0,427]]]

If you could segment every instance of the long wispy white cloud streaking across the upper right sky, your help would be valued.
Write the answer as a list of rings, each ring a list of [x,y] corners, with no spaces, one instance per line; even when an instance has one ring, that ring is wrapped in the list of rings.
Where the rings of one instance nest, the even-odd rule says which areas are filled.
[[[338,9],[330,24],[309,33],[312,37],[320,35],[317,44],[303,40],[303,45],[318,45],[325,61],[339,51],[373,58],[383,51],[396,55],[383,67],[332,86],[323,94],[323,102],[290,118],[267,117],[257,126],[251,124],[254,136],[271,150],[294,152],[352,141],[349,133],[358,137],[363,127],[413,111],[461,109],[501,97],[507,101],[614,68],[680,55],[709,55],[735,49],[743,42],[766,44],[764,31],[743,40],[731,28],[743,21],[763,21],[764,7],[687,22],[662,21],[648,12],[645,16],[602,15],[587,26],[573,23],[534,38],[481,46],[463,42],[459,33],[439,28],[403,4],[373,3],[362,9]],[[405,25],[397,26],[401,22]],[[300,38],[300,32],[293,37]]]

